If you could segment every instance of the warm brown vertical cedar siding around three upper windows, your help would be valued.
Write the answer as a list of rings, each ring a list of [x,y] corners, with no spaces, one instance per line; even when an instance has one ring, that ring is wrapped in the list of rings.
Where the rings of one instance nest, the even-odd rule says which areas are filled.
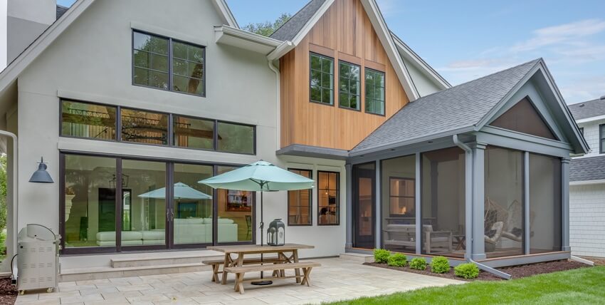
[[[335,60],[334,105],[311,103],[309,52]],[[338,61],[361,66],[362,111],[338,106]],[[385,115],[364,112],[364,67],[385,73]],[[280,58],[281,147],[350,150],[409,102],[359,0],[336,0],[304,39]]]

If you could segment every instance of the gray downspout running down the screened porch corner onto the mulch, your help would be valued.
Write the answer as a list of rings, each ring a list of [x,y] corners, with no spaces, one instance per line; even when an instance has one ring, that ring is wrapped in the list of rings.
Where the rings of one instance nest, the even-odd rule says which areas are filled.
[[[470,187],[473,185],[473,150],[471,150],[468,145],[462,143],[458,140],[458,135],[453,135],[453,143],[456,144],[459,148],[464,150],[465,154],[465,227],[466,227],[466,261],[473,263],[479,267],[479,269],[489,272],[490,274],[494,274],[495,276],[500,276],[503,279],[511,279],[512,276],[510,274],[501,272],[500,270],[494,269],[492,267],[486,266],[479,262],[475,262],[473,260],[473,189]]]

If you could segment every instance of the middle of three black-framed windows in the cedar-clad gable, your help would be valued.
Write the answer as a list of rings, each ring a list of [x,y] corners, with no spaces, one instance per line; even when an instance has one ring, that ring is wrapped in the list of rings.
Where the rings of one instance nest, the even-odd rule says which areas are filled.
[[[346,61],[338,62],[338,105],[342,108],[359,110],[359,95],[361,85],[359,81],[360,68]]]

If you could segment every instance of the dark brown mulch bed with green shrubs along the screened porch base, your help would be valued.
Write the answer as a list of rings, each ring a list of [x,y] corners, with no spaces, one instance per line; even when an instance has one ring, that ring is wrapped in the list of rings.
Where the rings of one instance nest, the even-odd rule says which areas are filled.
[[[430,275],[430,276],[439,276],[439,277],[444,277],[446,279],[458,279],[461,281],[502,281],[503,280],[502,278],[500,278],[498,276],[495,276],[493,274],[490,274],[490,273],[484,272],[484,271],[480,271],[479,276],[476,279],[463,279],[454,274],[453,268],[451,268],[450,271],[447,273],[436,274],[436,273],[431,272],[431,267],[428,265],[426,266],[426,270],[411,269],[409,266],[391,267],[387,264],[378,264],[378,263],[364,263],[364,265],[386,268],[386,269],[393,269],[393,270],[404,271],[404,272],[417,273],[417,274],[424,274],[424,275]],[[536,274],[551,273],[551,272],[557,272],[557,271],[565,271],[565,270],[578,269],[578,268],[584,268],[584,267],[590,267],[590,266],[579,263],[579,262],[569,261],[566,259],[566,260],[562,260],[562,261],[527,264],[527,265],[520,265],[520,266],[513,266],[513,267],[503,267],[503,268],[498,268],[498,270],[505,272],[507,274],[510,274],[513,279],[519,279],[519,278],[525,277],[525,276],[532,276],[532,275],[536,275]]]

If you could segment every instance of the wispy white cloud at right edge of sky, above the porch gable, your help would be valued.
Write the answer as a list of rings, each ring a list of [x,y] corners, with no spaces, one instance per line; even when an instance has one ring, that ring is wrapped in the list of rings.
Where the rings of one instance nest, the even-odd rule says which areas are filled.
[[[560,43],[574,44],[579,38],[591,36],[605,31],[605,21],[599,19],[586,19],[559,26],[548,26],[533,31],[533,37],[527,41],[515,44],[511,51],[532,51],[544,46],[552,46]]]

